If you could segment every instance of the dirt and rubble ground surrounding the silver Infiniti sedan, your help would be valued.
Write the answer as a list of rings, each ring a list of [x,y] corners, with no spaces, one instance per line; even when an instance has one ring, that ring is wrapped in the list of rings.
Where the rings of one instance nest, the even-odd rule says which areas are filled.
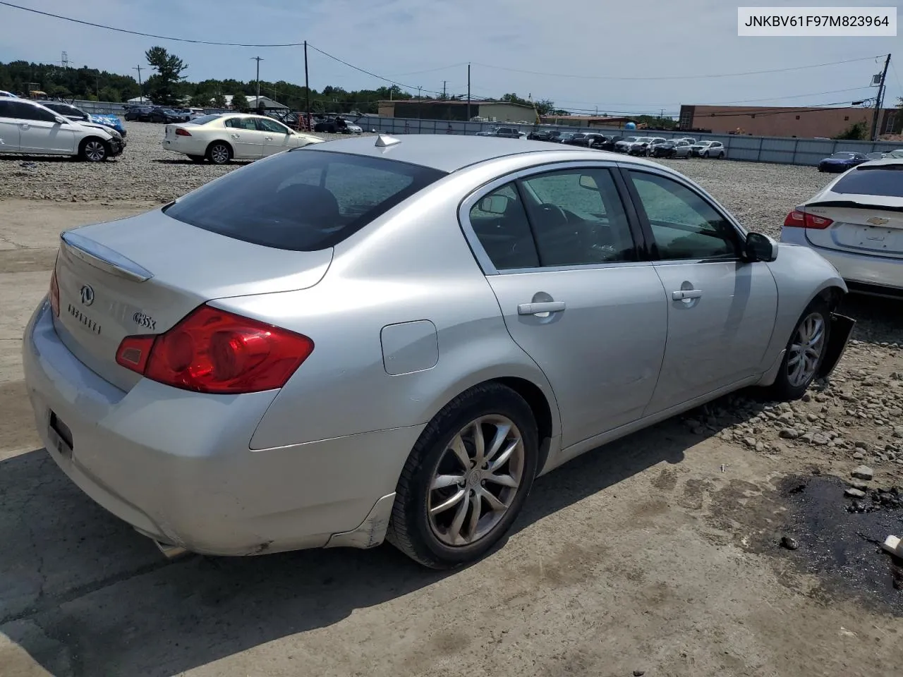
[[[903,484],[903,306],[850,301],[857,344],[805,402],[725,399],[541,478],[507,543],[465,570],[389,546],[171,563],[40,448],[20,359],[61,228],[151,206],[0,203],[3,677],[898,670],[903,592],[814,566],[782,487],[860,463],[876,487]],[[903,512],[883,515],[903,532]],[[778,546],[790,524],[796,551]]]

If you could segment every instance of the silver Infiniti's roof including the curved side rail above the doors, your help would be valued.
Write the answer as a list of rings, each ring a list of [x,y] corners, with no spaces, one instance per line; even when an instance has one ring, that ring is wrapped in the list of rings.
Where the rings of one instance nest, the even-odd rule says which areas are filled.
[[[385,136],[385,134],[383,134]],[[587,160],[614,161],[621,164],[646,165],[668,173],[678,174],[657,162],[643,158],[626,158],[620,153],[610,153],[582,146],[566,146],[526,139],[513,140],[492,136],[462,136],[449,134],[405,134],[393,137],[401,143],[377,146],[376,136],[362,136],[354,139],[327,141],[323,144],[303,146],[303,151],[353,153],[370,157],[386,157],[397,162],[409,162],[431,167],[440,172],[457,172],[479,162],[488,162],[507,157],[520,157],[526,163],[563,162],[579,160],[581,153],[589,153]],[[567,155],[567,158],[564,157]]]

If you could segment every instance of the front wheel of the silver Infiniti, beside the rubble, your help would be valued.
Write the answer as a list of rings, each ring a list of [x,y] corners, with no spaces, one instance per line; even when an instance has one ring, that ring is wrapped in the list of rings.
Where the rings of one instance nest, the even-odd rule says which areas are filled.
[[[824,299],[817,298],[803,311],[787,341],[787,353],[771,385],[776,400],[789,402],[803,396],[822,366],[830,332],[831,310]]]

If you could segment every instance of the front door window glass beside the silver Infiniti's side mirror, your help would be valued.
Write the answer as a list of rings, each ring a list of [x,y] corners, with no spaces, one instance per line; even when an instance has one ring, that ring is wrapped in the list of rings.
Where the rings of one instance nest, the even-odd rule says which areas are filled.
[[[721,259],[740,255],[736,229],[694,190],[660,174],[631,170],[662,259]]]

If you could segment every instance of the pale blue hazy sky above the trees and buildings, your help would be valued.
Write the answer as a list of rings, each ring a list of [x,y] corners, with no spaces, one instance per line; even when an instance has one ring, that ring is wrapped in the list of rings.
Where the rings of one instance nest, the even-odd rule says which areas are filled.
[[[214,42],[302,42],[359,68],[424,91],[474,96],[517,92],[560,107],[600,113],[676,112],[680,104],[745,102],[815,106],[874,96],[879,60],[745,77],[686,76],[874,57],[893,52],[888,105],[903,96],[903,36],[893,38],[738,37],[737,5],[723,0],[12,0],[93,23]],[[744,2],[743,5],[752,3]],[[801,0],[771,0],[798,6]],[[810,3],[815,4],[815,3]],[[903,0],[817,5],[903,6]],[[898,18],[903,13],[898,13]],[[261,79],[303,84],[301,48],[241,48],[168,42],[107,32],[0,5],[0,60],[59,62],[132,73],[161,44],[188,62],[190,79]],[[311,86],[375,88],[385,81],[309,51]],[[530,71],[530,72],[522,72]],[[562,77],[570,76],[570,77]],[[601,79],[601,77],[624,79]],[[671,79],[677,77],[681,79]],[[648,78],[666,78],[649,80]],[[861,88],[853,91],[840,91]],[[750,100],[761,99],[761,100]]]

